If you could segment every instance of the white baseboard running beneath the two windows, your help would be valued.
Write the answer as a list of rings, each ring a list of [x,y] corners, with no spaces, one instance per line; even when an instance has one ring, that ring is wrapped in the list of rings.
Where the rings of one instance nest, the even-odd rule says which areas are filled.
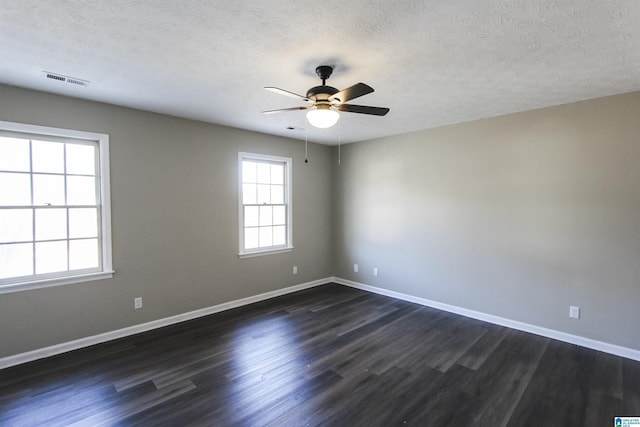
[[[139,334],[140,332],[146,332],[152,329],[162,328],[164,326],[169,326],[176,323],[184,322],[186,320],[196,319],[198,317],[207,316],[209,314],[230,310],[232,308],[237,308],[243,305],[252,304],[254,302],[259,302],[266,299],[278,297],[281,295],[290,294],[292,292],[301,291],[303,289],[313,288],[315,286],[324,285],[325,283],[330,283],[332,280],[333,280],[333,277],[314,280],[312,282],[289,286],[287,288],[278,289],[271,292],[265,292],[263,294],[254,295],[254,296],[242,298],[235,301],[229,301],[222,304],[217,304],[211,307],[202,308],[200,310],[194,310],[194,311],[178,314],[171,317],[165,317],[163,319],[153,320],[151,322],[142,323],[140,325],[129,326],[123,329],[118,329],[111,332],[105,332],[99,335],[80,338],[74,341],[69,341],[61,344],[52,345],[50,347],[44,347],[37,350],[28,351],[26,353],[20,353],[20,354],[8,356],[8,357],[0,358],[0,369],[8,368],[10,366],[20,365],[22,363],[31,362],[38,359],[44,359],[45,357],[55,356],[57,354],[66,353],[68,351],[77,350],[83,347],[89,347],[91,345],[100,344],[107,341],[112,341],[118,338],[124,338],[130,335]]]

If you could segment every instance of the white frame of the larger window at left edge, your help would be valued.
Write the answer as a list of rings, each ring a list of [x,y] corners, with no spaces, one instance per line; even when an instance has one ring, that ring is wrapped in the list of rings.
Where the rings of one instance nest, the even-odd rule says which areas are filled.
[[[38,276],[34,274],[32,276],[23,276],[15,279],[0,279],[0,294],[113,277],[114,271],[111,246],[111,191],[109,186],[109,135],[6,121],[0,121],[0,131],[7,134],[24,134],[27,138],[40,136],[43,139],[68,139],[70,142],[80,140],[97,143],[99,168],[96,171],[96,174],[98,175],[97,178],[100,184],[100,200],[98,200],[97,203],[101,218],[101,234],[99,239],[101,241],[100,249],[102,257],[101,268],[97,272],[91,271],[87,273],[82,270],[76,270],[56,274],[55,277],[49,277],[48,275]]]

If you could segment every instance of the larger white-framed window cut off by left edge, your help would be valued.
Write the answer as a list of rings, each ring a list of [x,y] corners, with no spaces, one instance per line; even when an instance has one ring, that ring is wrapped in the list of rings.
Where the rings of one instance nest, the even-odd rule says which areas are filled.
[[[0,121],[0,293],[112,277],[108,144]]]

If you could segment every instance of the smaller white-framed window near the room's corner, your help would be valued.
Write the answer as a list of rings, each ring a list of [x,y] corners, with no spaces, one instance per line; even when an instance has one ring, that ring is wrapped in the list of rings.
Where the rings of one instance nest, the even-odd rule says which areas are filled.
[[[239,153],[240,256],[290,251],[291,159]]]

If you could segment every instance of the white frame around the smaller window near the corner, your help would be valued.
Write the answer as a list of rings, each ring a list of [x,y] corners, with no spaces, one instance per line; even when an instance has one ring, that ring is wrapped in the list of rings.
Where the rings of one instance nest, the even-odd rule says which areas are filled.
[[[245,249],[244,247],[244,203],[243,203],[243,177],[242,162],[244,160],[253,160],[257,162],[278,162],[284,163],[284,204],[286,206],[286,243],[284,245],[269,246],[264,248]],[[266,154],[256,154],[239,152],[238,153],[238,256],[240,258],[249,258],[261,255],[271,255],[283,252],[291,252],[293,250],[292,236],[292,203],[291,203],[291,176],[292,176],[292,159],[290,157],[272,156]]]

